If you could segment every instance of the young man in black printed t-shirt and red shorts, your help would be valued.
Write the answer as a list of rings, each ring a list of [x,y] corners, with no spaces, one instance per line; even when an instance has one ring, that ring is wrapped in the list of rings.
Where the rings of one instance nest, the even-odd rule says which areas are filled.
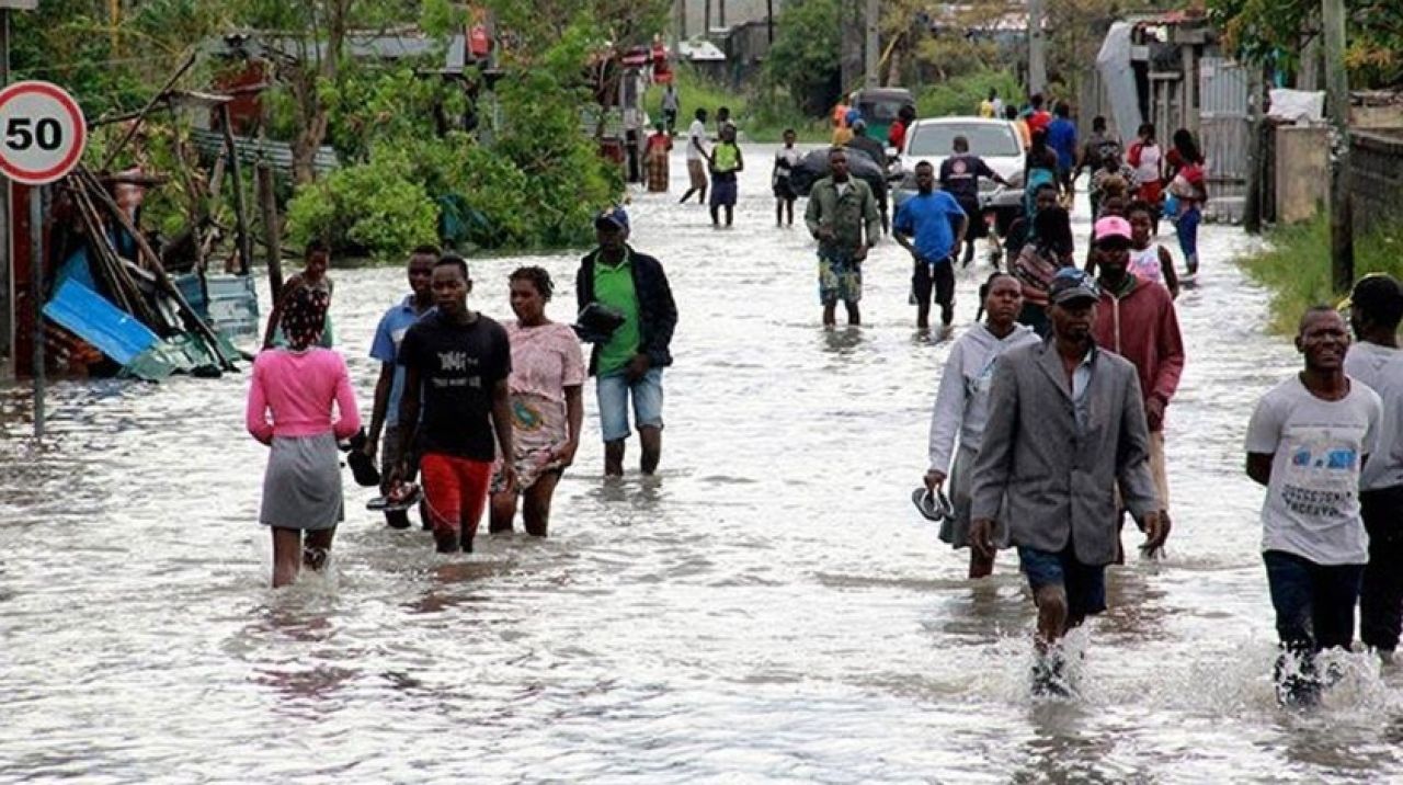
[[[512,455],[506,386],[512,350],[501,324],[469,310],[473,281],[462,257],[441,258],[432,281],[438,310],[415,322],[400,344],[400,423],[418,423],[401,428],[400,455],[411,455],[411,447],[422,455],[425,506],[439,553],[460,546],[470,553],[487,506],[494,433],[501,454]],[[397,480],[405,476],[408,466],[396,469]],[[502,477],[508,490],[515,486],[509,461],[502,463]]]

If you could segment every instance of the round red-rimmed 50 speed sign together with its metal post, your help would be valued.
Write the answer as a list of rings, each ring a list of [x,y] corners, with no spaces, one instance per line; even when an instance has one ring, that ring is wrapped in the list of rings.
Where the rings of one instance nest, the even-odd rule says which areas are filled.
[[[29,296],[34,301],[34,437],[43,437],[43,185],[77,166],[87,121],[73,95],[48,81],[0,90],[0,174],[29,188]]]

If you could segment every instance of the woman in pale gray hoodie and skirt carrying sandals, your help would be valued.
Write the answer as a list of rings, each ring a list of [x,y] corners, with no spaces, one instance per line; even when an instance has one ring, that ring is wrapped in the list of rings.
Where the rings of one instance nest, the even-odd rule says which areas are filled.
[[[1007,272],[995,272],[979,286],[979,310],[986,319],[955,341],[940,376],[936,410],[930,420],[930,469],[926,487],[934,493],[950,473],[950,501],[954,518],[940,527],[940,539],[955,548],[969,546],[969,470],[984,442],[989,421],[989,383],[993,368],[1009,350],[1035,344],[1038,336],[1016,322],[1023,308],[1023,288]],[[978,317],[976,317],[978,319]],[[960,437],[960,452],[951,455]],[[954,468],[950,466],[954,458]],[[969,577],[993,572],[993,559],[969,549]]]

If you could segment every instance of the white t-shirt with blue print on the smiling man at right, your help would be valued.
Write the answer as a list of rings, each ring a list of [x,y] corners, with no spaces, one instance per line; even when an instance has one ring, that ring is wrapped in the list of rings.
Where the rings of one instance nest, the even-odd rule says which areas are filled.
[[[1261,507],[1261,549],[1317,565],[1364,565],[1360,463],[1374,452],[1383,406],[1358,379],[1350,395],[1320,400],[1298,376],[1277,385],[1251,414],[1247,452],[1275,454]]]

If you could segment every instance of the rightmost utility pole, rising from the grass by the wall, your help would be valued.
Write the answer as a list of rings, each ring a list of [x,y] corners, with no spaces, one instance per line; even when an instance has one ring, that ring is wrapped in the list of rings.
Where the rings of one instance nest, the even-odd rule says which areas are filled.
[[[1322,0],[1324,87],[1330,107],[1330,279],[1354,285],[1354,211],[1350,204],[1350,74],[1344,70],[1344,0]]]

